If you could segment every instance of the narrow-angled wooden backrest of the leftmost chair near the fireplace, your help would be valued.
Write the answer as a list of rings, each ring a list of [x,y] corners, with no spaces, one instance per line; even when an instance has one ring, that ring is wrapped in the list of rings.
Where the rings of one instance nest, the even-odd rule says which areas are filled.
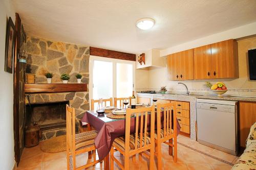
[[[75,109],[66,105],[67,152],[75,151]]]

